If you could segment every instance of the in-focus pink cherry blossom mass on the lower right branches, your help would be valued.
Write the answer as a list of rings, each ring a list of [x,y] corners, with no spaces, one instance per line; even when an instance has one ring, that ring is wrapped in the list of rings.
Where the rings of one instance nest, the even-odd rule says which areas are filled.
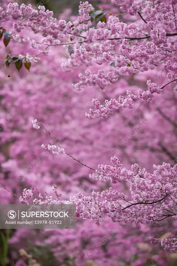
[[[114,222],[124,221],[150,223],[162,221],[168,217],[176,219],[176,170],[170,164],[153,165],[154,172],[150,174],[138,164],[131,166],[131,171],[121,168],[117,157],[111,158],[112,166],[98,165],[95,174],[90,178],[112,183],[128,182],[132,200],[124,193],[109,188],[103,192],[92,192],[92,197],[78,194],[71,197],[71,203],[76,204],[78,216],[103,220],[104,214]],[[89,210],[89,211],[88,211]]]

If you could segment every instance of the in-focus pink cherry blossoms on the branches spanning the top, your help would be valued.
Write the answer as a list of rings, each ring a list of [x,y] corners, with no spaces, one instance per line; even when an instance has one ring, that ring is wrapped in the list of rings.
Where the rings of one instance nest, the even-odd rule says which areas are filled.
[[[107,64],[108,70],[98,70],[97,74],[86,71],[85,74],[79,74],[80,81],[73,84],[74,88],[81,90],[88,85],[98,85],[104,88],[107,82],[115,82],[120,76],[130,76],[138,72],[145,72],[148,69],[154,69],[159,65],[168,72],[167,76],[170,82],[176,81],[176,2],[153,4],[151,1],[139,0],[115,2],[116,6],[120,5],[120,12],[134,15],[138,18],[137,22],[130,24],[122,22],[117,16],[109,15],[107,23],[98,21],[97,27],[92,25],[94,9],[91,4],[81,2],[79,6],[79,16],[75,21],[66,22],[65,20],[56,20],[53,12],[45,10],[44,6],[33,9],[31,5],[9,3],[7,10],[1,8],[1,18],[9,20],[25,21],[14,22],[14,28],[21,32],[23,28],[31,28],[36,33],[42,33],[44,37],[40,42],[28,40],[20,35],[12,35],[14,41],[28,41],[30,47],[40,48],[41,45],[47,45],[40,48],[34,56],[27,54],[25,60],[29,62],[37,61],[42,53],[47,55],[50,46],[55,45],[75,45],[70,49],[70,58],[67,62],[62,63],[63,70],[69,71],[80,64]],[[90,13],[91,12],[91,13]],[[160,16],[159,14],[162,14]],[[164,15],[166,14],[166,15]],[[168,15],[167,15],[168,14]],[[161,17],[163,20],[161,21]],[[105,17],[106,18],[106,17]],[[153,18],[153,20],[152,20]],[[156,25],[162,23],[163,28],[159,30]],[[79,34],[78,34],[79,32]],[[9,37],[10,38],[10,37]],[[64,40],[64,42],[63,42]],[[23,60],[24,60],[23,59]],[[168,83],[167,83],[168,84]],[[93,99],[95,109],[90,109],[86,117],[108,117],[113,111],[122,107],[133,107],[133,101],[143,99],[146,102],[151,101],[153,93],[159,93],[162,88],[153,82],[148,81],[147,91],[138,92],[134,95],[127,91],[127,98],[120,95],[119,99],[105,100],[101,104],[97,99]]]

